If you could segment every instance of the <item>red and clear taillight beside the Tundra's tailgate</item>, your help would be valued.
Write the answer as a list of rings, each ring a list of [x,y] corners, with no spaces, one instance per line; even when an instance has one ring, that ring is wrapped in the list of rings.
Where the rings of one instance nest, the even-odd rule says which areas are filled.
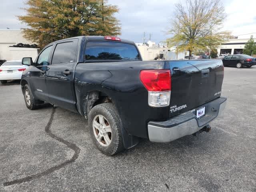
[[[164,107],[170,104],[170,70],[142,70],[140,71],[140,80],[148,90],[149,106]]]

